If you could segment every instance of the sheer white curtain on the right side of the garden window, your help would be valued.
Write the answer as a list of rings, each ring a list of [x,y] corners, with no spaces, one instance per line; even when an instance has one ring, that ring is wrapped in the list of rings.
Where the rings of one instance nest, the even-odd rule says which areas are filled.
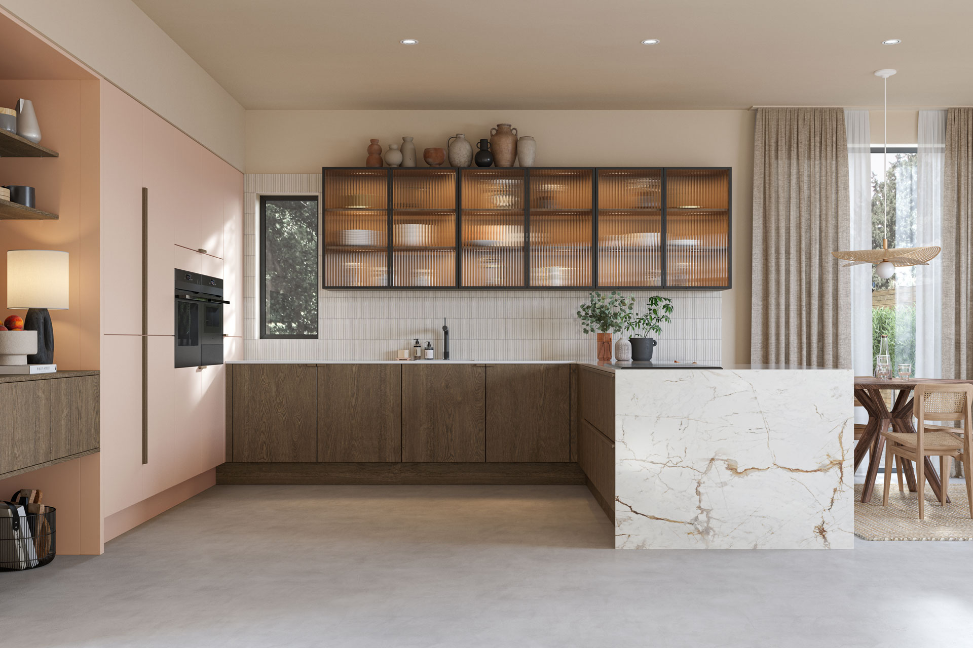
[[[919,111],[916,245],[942,246],[943,167],[946,111]],[[896,246],[900,247],[900,246]],[[905,246],[901,246],[905,247]],[[916,271],[916,375],[939,378],[943,371],[943,263],[940,258]]]

